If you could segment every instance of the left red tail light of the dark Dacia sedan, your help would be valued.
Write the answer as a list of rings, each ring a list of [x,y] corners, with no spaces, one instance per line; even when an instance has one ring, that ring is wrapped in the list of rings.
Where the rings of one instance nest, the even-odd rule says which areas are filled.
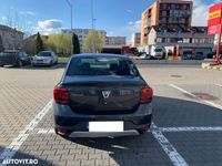
[[[67,89],[56,86],[53,90],[53,98],[58,104],[68,105],[70,102],[70,93]]]

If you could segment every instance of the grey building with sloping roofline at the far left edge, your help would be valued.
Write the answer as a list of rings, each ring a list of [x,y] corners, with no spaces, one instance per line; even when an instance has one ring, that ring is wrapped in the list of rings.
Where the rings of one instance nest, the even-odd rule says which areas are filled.
[[[4,50],[16,50],[22,48],[24,33],[7,25],[0,25],[0,35]]]

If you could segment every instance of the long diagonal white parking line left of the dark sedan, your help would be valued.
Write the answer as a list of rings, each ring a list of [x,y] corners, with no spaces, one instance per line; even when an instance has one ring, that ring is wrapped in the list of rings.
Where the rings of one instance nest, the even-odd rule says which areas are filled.
[[[49,112],[52,106],[52,100],[42,108],[41,112],[37,114],[37,116],[22,129],[19,132],[19,135],[12,141],[12,143],[7,146],[0,155],[0,166],[4,166],[4,159],[11,159],[14,154],[19,151],[20,146],[28,138],[38,123],[42,120],[42,117]]]

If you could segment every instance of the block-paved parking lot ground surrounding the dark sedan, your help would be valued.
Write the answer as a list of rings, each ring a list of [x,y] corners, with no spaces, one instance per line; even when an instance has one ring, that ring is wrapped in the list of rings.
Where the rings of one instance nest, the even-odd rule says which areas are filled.
[[[152,129],[142,136],[69,139],[54,134],[51,111],[63,65],[0,68],[0,163],[222,165],[222,72],[200,65],[138,68],[154,90]]]

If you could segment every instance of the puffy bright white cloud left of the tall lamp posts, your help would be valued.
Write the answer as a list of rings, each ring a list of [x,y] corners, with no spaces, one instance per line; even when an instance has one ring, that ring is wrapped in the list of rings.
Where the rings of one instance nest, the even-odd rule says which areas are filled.
[[[38,30],[53,31],[62,27],[62,21],[57,19],[38,21]]]

